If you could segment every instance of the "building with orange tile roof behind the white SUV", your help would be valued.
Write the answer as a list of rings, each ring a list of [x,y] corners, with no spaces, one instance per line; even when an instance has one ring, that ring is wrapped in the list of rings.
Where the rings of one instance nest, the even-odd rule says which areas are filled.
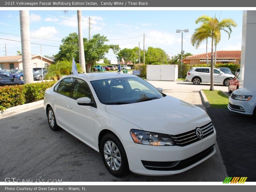
[[[211,52],[208,52],[208,62],[211,62]],[[213,52],[213,60],[215,52]],[[216,63],[234,63],[240,64],[241,62],[241,51],[216,51]],[[206,53],[191,55],[183,60],[184,64],[206,64]]]

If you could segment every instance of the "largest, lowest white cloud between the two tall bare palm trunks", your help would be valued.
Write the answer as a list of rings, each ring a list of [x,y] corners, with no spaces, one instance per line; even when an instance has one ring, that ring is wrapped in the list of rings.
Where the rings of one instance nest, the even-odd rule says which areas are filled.
[[[57,34],[58,31],[55,29],[55,27],[41,27],[37,30],[33,30],[30,32],[31,37],[36,37],[36,38],[52,38],[54,37],[55,34]]]

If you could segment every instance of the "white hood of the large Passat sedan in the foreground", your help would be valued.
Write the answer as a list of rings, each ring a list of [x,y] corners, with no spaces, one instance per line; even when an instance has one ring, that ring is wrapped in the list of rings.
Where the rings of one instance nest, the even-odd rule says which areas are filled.
[[[107,105],[105,109],[142,130],[173,135],[211,121],[203,109],[170,96],[126,105]]]

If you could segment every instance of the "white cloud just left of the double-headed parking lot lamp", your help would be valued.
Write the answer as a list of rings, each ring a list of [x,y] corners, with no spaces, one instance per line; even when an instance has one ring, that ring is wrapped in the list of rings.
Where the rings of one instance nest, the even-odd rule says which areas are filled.
[[[148,35],[154,42],[159,44],[171,45],[175,42],[175,36],[171,33],[163,33],[161,31],[151,31]]]

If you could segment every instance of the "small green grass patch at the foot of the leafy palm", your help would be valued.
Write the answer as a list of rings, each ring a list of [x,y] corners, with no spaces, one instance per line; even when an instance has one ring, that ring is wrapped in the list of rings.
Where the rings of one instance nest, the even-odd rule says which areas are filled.
[[[215,108],[227,108],[228,96],[219,90],[209,91],[203,90],[210,106]]]

